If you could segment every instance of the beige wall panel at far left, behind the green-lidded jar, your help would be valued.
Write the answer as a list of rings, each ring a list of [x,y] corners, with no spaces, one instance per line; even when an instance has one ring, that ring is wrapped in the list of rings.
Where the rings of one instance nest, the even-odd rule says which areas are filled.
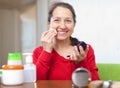
[[[21,51],[20,19],[17,10],[0,9],[0,68],[9,52]]]

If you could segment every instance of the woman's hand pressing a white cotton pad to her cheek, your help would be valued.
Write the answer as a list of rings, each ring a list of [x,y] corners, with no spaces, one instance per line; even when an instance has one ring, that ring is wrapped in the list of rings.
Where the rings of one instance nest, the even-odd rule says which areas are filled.
[[[51,52],[54,45],[55,36],[57,31],[55,29],[49,29],[48,31],[43,32],[41,36],[41,42],[43,49],[47,52]]]

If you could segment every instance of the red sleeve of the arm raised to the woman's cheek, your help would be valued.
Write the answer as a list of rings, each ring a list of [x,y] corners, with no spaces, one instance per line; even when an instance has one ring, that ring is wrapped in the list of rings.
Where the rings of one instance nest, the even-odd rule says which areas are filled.
[[[37,80],[46,80],[52,54],[38,47],[33,51],[33,63],[36,65]]]

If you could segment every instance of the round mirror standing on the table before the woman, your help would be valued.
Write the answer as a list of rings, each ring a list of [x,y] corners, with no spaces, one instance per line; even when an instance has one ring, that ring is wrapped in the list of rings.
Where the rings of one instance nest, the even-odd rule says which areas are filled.
[[[77,68],[72,73],[72,82],[74,88],[88,88],[87,86],[90,81],[90,72],[86,68]]]

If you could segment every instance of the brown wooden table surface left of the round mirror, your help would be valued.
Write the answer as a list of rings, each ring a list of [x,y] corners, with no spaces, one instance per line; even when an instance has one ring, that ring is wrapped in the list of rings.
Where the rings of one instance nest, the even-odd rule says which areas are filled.
[[[68,80],[40,80],[35,83],[24,83],[16,86],[0,84],[0,88],[72,88],[72,82]]]

